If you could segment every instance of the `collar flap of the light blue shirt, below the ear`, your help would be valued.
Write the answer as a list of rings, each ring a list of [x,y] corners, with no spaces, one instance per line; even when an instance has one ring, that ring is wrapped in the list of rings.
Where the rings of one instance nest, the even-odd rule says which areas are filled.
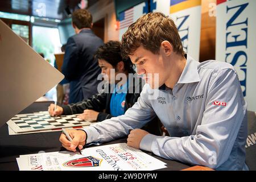
[[[179,78],[179,81],[177,81],[177,84],[199,82],[201,79],[197,69],[198,65],[199,62],[194,60],[191,56],[187,55],[185,68],[183,69],[183,72],[181,73],[181,76]]]

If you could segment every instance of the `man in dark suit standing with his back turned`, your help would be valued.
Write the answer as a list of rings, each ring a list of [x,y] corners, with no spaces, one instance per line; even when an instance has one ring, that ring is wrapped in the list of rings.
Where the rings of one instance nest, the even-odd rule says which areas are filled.
[[[87,10],[76,10],[72,14],[72,26],[76,35],[68,39],[63,66],[69,81],[69,104],[82,101],[97,93],[97,76],[101,73],[94,52],[103,44],[91,30],[92,15]]]

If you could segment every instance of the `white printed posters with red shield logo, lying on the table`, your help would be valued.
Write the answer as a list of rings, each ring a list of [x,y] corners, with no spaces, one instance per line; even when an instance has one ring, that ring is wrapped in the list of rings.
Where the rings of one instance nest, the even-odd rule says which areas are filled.
[[[47,152],[20,155],[20,171],[152,171],[166,168],[166,163],[126,143],[109,144],[71,152]]]

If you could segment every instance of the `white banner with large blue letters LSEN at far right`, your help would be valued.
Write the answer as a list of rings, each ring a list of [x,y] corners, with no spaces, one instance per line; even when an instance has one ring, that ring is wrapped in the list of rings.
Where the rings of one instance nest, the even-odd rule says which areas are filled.
[[[251,111],[256,111],[255,7],[255,0],[217,0],[216,9],[216,60],[234,66]]]

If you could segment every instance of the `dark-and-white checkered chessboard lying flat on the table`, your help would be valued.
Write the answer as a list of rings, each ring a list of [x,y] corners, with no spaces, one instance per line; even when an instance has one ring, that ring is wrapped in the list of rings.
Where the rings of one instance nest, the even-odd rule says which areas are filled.
[[[51,117],[48,111],[17,114],[7,122],[7,125],[9,125],[15,133],[26,133],[31,131],[61,129],[64,127],[87,126],[91,124],[88,121],[77,118],[77,115],[78,114]]]

